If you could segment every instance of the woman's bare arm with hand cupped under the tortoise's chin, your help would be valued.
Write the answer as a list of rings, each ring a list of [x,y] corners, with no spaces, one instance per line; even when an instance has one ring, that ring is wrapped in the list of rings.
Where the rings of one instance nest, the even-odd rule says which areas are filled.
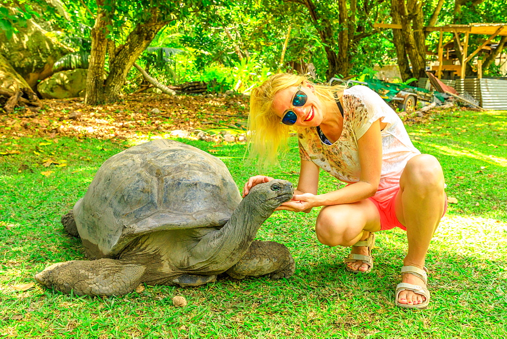
[[[359,138],[357,146],[359,152],[359,163],[361,165],[361,174],[358,182],[340,188],[336,191],[315,195],[317,192],[316,185],[318,183],[318,179],[314,188],[309,183],[306,183],[306,179],[303,179],[302,189],[300,190],[300,185],[298,185],[298,191],[302,191],[304,193],[295,194],[291,201],[284,202],[278,209],[306,212],[311,210],[313,207],[350,204],[351,202],[363,200],[375,195],[380,182],[380,173],[382,169],[382,137],[380,134],[380,119],[370,126],[363,137]],[[300,175],[300,182],[302,177],[303,171]],[[312,181],[311,178],[308,180],[310,182]]]

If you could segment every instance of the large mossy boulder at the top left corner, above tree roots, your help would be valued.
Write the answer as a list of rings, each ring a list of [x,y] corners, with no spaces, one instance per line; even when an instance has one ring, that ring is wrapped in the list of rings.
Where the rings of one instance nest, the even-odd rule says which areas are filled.
[[[1,6],[0,6],[1,7]],[[8,8],[13,13],[12,8]],[[53,74],[52,67],[59,58],[73,50],[63,46],[48,31],[29,19],[26,27],[17,27],[11,39],[0,30],[0,54],[27,84],[35,89],[37,82]]]

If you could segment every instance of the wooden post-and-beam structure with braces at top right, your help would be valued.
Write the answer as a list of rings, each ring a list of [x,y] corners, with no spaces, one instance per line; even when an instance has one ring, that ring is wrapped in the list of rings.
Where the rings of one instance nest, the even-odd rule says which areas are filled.
[[[401,29],[402,25],[376,23],[374,24],[374,27]],[[461,52],[461,60],[460,60],[461,67],[459,67],[460,73],[459,77],[463,79],[465,77],[465,67],[462,66],[465,65],[472,58],[474,58],[477,53],[479,53],[486,45],[488,45],[497,36],[507,36],[507,23],[470,23],[468,25],[446,25],[440,27],[424,27],[424,30],[428,32],[432,31],[440,32],[439,49],[438,49],[439,68],[437,70],[437,76],[439,78],[441,78],[442,75],[442,64],[444,55],[444,48],[442,46],[443,33],[444,32],[453,33],[454,37],[456,38],[456,41],[458,42],[459,51]],[[462,42],[460,39],[460,34],[465,35]],[[483,44],[479,46],[475,51],[468,54],[468,37],[470,36],[470,34],[487,35],[489,36],[489,38],[486,39],[483,42]],[[477,73],[479,78],[482,77],[481,61],[482,60],[479,60],[479,63],[477,65],[478,70]]]

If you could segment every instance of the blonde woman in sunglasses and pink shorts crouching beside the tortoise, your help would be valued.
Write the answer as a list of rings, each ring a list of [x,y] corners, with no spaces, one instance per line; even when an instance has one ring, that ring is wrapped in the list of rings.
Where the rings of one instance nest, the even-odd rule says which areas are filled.
[[[395,302],[424,308],[429,302],[424,267],[430,240],[447,209],[439,161],[421,154],[400,118],[365,86],[321,86],[294,74],[275,74],[251,92],[250,152],[260,163],[276,161],[289,128],[299,137],[301,168],[291,201],[279,210],[309,212],[322,206],[315,230],[329,246],[352,246],[346,269],[373,267],[375,232],[407,231],[408,253]],[[317,194],[319,169],[349,185]],[[272,180],[251,177],[251,187]]]

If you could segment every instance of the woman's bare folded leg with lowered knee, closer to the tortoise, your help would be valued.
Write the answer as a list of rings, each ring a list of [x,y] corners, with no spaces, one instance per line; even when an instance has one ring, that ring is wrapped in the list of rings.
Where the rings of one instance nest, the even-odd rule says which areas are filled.
[[[325,206],[320,210],[315,224],[317,239],[328,246],[352,246],[366,240],[370,232],[378,230],[380,215],[375,204],[368,199],[354,204]],[[352,247],[351,253],[368,255],[368,248]],[[362,261],[347,265],[362,272],[368,269],[368,265]]]

